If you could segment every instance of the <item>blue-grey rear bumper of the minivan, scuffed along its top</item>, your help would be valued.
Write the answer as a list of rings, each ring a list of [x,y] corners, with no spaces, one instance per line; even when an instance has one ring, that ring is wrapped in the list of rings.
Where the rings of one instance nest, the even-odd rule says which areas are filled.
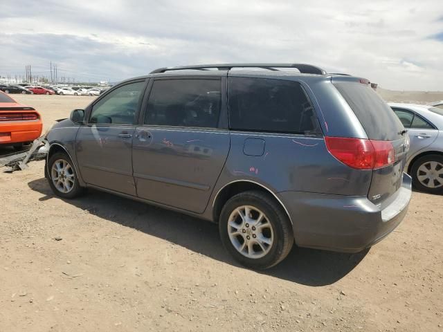
[[[396,197],[381,210],[365,196],[280,192],[301,247],[359,252],[381,241],[404,219],[411,197],[411,179],[403,174]]]

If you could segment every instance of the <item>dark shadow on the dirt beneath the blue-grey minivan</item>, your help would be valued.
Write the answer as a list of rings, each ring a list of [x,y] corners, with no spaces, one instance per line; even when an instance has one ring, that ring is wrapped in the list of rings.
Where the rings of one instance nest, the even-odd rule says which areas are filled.
[[[46,178],[30,181],[28,186],[45,195],[39,199],[40,201],[60,199],[53,194]],[[87,196],[66,200],[66,203],[88,210],[89,213],[102,219],[134,228],[201,255],[242,268],[221,249],[218,228],[214,223],[96,190],[89,190]],[[350,273],[368,251],[343,254],[294,246],[282,263],[258,273],[307,286],[325,286],[334,284]]]

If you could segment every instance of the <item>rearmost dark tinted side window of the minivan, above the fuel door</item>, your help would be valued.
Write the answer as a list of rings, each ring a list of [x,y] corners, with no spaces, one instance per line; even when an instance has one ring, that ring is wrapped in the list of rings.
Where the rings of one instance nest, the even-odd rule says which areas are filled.
[[[314,108],[298,82],[230,77],[228,104],[233,130],[321,132]]]

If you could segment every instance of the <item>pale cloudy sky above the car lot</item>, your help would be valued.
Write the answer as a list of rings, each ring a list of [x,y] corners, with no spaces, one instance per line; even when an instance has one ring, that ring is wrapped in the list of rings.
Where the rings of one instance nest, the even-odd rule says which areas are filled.
[[[118,82],[155,68],[307,63],[443,91],[442,0],[2,1],[0,75]]]

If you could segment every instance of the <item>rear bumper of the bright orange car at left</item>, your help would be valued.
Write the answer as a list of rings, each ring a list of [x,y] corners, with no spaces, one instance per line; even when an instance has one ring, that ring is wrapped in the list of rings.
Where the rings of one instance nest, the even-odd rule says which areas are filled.
[[[12,121],[0,124],[0,145],[32,142],[42,134],[42,121]]]

